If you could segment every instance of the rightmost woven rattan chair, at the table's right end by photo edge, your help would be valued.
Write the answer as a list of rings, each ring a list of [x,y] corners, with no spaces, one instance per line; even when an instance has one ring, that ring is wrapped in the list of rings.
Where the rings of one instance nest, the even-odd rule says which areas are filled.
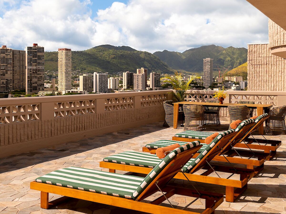
[[[286,125],[286,106],[273,108],[269,113],[270,117],[266,125],[266,134],[269,135],[285,135]]]

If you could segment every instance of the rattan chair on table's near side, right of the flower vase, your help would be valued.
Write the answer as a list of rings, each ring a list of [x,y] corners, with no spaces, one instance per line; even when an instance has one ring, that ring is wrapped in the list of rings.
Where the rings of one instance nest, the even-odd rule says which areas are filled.
[[[235,120],[246,120],[250,118],[250,108],[246,106],[231,105],[227,107],[229,111],[229,128],[230,124]]]

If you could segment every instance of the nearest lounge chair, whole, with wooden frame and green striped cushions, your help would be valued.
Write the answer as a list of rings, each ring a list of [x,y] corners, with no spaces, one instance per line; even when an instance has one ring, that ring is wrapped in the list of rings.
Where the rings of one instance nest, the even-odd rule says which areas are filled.
[[[67,197],[78,198],[149,213],[196,213],[171,207],[159,206],[174,194],[206,199],[202,213],[213,213],[223,202],[223,195],[168,186],[167,183],[180,171],[200,146],[188,144],[176,148],[143,177],[122,175],[68,167],[38,177],[30,183],[31,189],[41,191],[41,208],[48,209]],[[150,203],[142,202],[158,191],[166,192]],[[49,202],[49,193],[64,195]]]

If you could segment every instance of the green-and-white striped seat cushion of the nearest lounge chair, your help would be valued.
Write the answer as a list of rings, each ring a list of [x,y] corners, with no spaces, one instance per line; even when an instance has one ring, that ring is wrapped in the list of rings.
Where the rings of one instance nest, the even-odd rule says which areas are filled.
[[[38,177],[37,182],[80,189],[106,195],[133,198],[144,178],[80,167],[58,169]]]

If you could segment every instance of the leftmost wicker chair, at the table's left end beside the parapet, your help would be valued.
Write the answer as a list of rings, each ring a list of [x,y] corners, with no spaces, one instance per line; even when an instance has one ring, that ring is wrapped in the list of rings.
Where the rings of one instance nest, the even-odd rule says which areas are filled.
[[[166,100],[163,102],[164,110],[165,110],[165,121],[164,127],[173,127],[174,126],[174,106],[173,100]],[[184,124],[184,112],[179,111],[178,122],[181,121]]]

